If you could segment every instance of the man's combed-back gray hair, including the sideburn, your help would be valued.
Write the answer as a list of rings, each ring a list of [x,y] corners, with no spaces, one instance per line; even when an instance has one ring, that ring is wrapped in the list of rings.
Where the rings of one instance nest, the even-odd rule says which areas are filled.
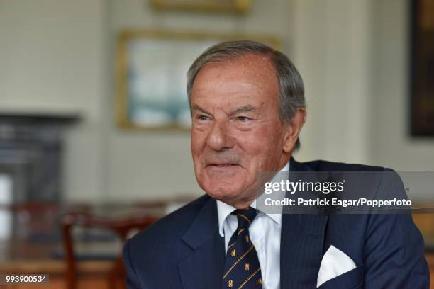
[[[209,47],[194,60],[187,72],[187,95],[191,105],[191,89],[199,71],[209,63],[235,60],[248,54],[267,57],[276,69],[279,80],[279,116],[285,123],[290,123],[297,108],[305,108],[304,85],[299,72],[291,60],[282,52],[272,49],[260,42],[238,40],[221,42]],[[294,149],[299,149],[300,140],[296,141]]]

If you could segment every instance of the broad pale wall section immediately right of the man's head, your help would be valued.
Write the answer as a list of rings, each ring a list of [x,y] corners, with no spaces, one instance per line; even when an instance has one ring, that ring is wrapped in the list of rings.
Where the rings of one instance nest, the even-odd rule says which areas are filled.
[[[370,161],[370,1],[297,0],[294,62],[306,88],[303,160]]]

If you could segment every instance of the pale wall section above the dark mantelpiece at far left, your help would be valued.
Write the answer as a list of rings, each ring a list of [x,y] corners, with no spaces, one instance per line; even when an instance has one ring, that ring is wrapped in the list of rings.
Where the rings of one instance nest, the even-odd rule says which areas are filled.
[[[101,117],[103,1],[0,1],[2,110]]]

